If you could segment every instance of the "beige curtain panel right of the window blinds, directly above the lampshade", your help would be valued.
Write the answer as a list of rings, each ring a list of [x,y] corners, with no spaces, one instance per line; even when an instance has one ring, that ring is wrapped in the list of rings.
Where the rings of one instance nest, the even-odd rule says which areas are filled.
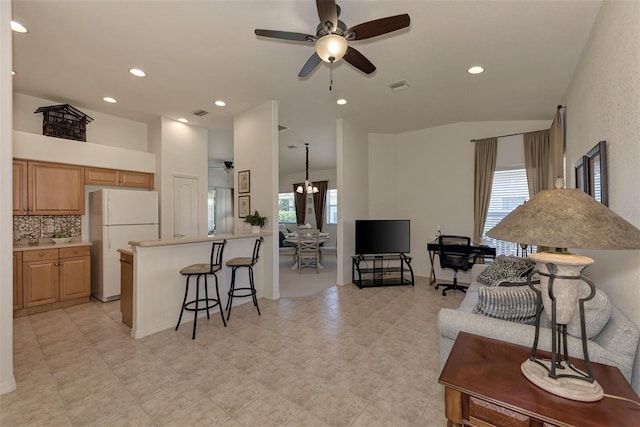
[[[539,130],[522,135],[524,139],[524,167],[527,171],[529,197],[552,187],[553,175],[549,153],[549,131]]]

